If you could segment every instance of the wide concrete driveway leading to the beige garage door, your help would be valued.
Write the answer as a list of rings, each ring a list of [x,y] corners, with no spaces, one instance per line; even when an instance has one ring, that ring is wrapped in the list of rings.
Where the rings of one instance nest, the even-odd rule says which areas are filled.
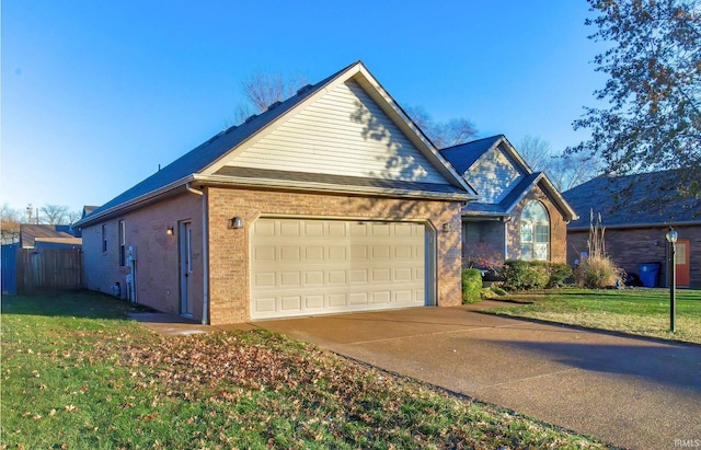
[[[701,448],[701,346],[476,311],[490,305],[254,325],[616,446]]]

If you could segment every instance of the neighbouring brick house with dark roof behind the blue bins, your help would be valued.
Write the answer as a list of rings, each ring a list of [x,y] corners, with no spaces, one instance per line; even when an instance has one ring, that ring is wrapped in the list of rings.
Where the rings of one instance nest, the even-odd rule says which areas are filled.
[[[582,215],[567,226],[567,262],[586,257],[590,211],[601,215],[606,253],[629,275],[658,265],[656,286],[668,286],[669,246],[665,235],[673,227],[677,242],[677,285],[701,288],[701,199],[679,198],[669,189],[674,173],[598,176],[563,196]],[[647,274],[644,274],[644,278]]]

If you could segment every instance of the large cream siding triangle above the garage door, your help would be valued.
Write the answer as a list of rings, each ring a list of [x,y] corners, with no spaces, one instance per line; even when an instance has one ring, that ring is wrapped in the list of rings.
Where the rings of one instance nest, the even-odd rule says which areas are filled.
[[[448,184],[354,80],[237,150],[225,165]]]

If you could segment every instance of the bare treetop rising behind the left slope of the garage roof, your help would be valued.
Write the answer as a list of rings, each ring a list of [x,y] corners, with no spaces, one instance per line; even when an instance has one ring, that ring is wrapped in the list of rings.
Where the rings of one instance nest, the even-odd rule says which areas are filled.
[[[307,78],[295,76],[289,79],[281,73],[254,72],[241,82],[244,102],[234,111],[234,120],[243,123],[252,114],[264,113],[275,102],[283,102],[295,95],[307,84]]]

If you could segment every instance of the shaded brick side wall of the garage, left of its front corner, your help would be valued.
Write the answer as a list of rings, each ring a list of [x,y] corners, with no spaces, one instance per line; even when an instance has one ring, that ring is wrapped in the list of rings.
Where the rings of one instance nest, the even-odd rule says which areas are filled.
[[[137,299],[159,311],[180,314],[179,223],[189,221],[193,233],[193,315],[202,319],[203,238],[200,196],[183,194],[83,229],[83,284],[87,289],[112,293],[119,282],[127,298],[127,267],[119,267],[118,221],[124,220],[125,244],[137,250]],[[102,252],[102,224],[107,251]],[[168,235],[168,227],[174,234]]]

